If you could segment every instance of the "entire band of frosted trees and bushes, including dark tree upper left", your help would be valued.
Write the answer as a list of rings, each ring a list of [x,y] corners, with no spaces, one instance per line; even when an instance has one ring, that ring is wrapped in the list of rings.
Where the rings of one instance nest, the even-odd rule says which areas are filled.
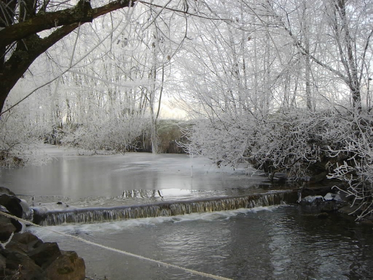
[[[338,179],[369,202],[371,4],[6,0],[2,149],[62,132],[126,149],[146,129],[157,152],[172,97],[193,123],[190,153],[271,178]]]

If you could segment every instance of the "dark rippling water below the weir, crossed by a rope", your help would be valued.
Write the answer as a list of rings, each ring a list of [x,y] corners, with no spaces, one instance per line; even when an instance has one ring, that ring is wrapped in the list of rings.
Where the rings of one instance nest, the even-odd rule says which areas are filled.
[[[154,260],[232,279],[371,279],[371,226],[296,206],[50,227]],[[204,279],[32,229],[77,250],[87,275],[109,279]]]

